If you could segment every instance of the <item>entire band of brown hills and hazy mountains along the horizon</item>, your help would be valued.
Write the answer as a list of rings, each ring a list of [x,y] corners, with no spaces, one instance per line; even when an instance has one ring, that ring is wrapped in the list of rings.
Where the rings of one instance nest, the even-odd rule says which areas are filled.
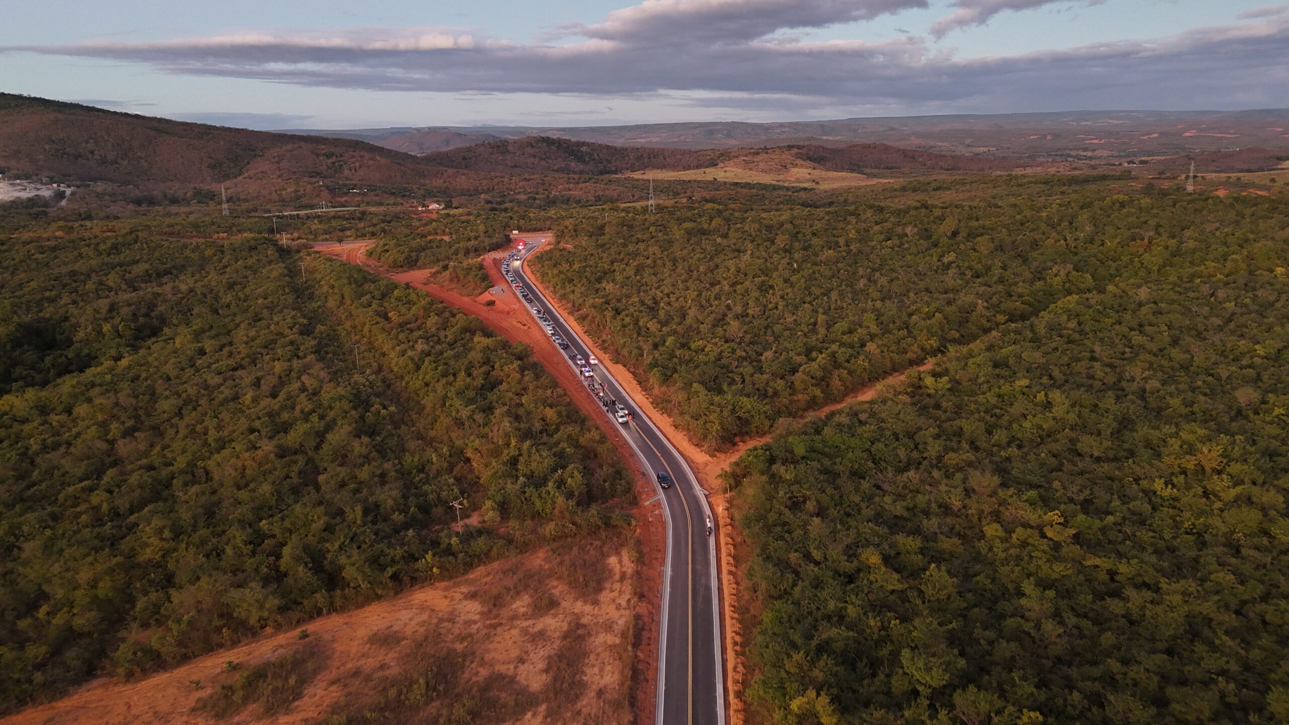
[[[1275,169],[1289,157],[1285,111],[1030,114],[886,121],[891,123],[866,119],[489,128],[487,132],[362,129],[302,135],[192,124],[0,93],[0,173],[134,187],[227,184],[241,199],[327,200],[367,194],[366,186],[389,184],[418,187],[424,195],[441,197],[496,188],[510,194],[556,188],[579,199],[634,200],[639,195],[634,181],[621,175],[670,172],[657,175],[670,179],[672,191],[678,194],[681,188],[719,188],[712,186],[717,181],[839,186],[914,174],[1094,169],[1119,164],[1115,159],[1127,155],[1155,156],[1154,163],[1133,166],[1148,174],[1183,173],[1190,157],[1199,161],[1201,173]],[[1047,132],[1042,134],[1030,133],[1044,128]],[[646,138],[642,129],[652,129],[654,135]],[[1148,129],[1159,130],[1143,133]],[[321,135],[333,133],[336,137]],[[512,133],[552,135],[508,138]],[[842,139],[847,133],[884,135],[902,143]],[[1026,135],[1014,141],[1022,133]],[[553,134],[589,135],[615,143]],[[999,141],[998,144],[973,146],[986,137]],[[714,148],[664,143],[665,139],[699,146],[695,138],[709,139],[706,144]],[[1008,142],[1011,146],[1002,143],[1005,138],[1013,139]],[[1245,146],[1254,141],[1261,146]],[[1034,146],[1026,146],[1031,142]],[[761,148],[764,146],[773,148]],[[1087,148],[1094,150],[1090,156]],[[1071,160],[1090,163],[1067,163]],[[590,182],[586,177],[598,179]]]

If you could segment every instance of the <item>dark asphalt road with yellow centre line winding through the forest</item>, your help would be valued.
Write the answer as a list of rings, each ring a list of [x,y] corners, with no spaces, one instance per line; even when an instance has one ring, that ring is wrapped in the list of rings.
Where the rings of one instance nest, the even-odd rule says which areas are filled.
[[[556,332],[568,342],[568,350],[561,352],[566,353],[568,365],[576,369],[574,357],[581,355],[589,361],[590,348],[541,295],[523,270],[523,259],[549,239],[541,235],[522,239],[527,248],[519,253],[518,263],[510,264],[510,271],[532,295],[534,302],[525,304],[525,310],[531,313],[531,307],[539,307],[545,312]],[[510,293],[514,293],[513,288]],[[534,323],[540,325],[535,316]],[[593,379],[607,391],[606,397],[616,399],[633,413],[633,419],[621,426],[623,433],[635,449],[641,463],[654,476],[654,488],[661,497],[666,517],[666,570],[663,577],[656,722],[724,725],[717,534],[712,531],[709,535],[706,530],[712,510],[699,489],[693,471],[670,441],[607,370],[598,365],[593,370]],[[605,414],[612,417],[612,412],[606,410]],[[668,489],[660,488],[657,471],[670,473],[674,484]]]

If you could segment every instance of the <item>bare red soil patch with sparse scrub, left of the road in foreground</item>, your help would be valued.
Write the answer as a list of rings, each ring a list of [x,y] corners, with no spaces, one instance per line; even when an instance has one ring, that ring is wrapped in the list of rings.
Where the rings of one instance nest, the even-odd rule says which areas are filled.
[[[393,721],[420,721],[461,702],[491,722],[624,722],[630,719],[629,602],[638,575],[629,548],[620,538],[605,538],[519,555],[135,682],[99,680],[3,722],[286,725],[365,712],[389,721],[398,708],[407,719],[394,712]],[[268,700],[253,700],[231,706],[223,717],[209,713],[213,697],[227,695],[244,673],[286,658],[296,659],[295,691],[278,697],[273,712],[266,713]],[[410,700],[427,672],[436,672],[438,691]]]

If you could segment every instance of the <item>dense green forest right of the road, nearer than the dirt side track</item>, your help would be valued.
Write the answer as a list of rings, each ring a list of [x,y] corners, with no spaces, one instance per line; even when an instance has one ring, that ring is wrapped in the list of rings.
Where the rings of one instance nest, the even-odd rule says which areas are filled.
[[[1289,717],[1283,217],[1078,206],[1098,290],[735,464],[770,720]]]

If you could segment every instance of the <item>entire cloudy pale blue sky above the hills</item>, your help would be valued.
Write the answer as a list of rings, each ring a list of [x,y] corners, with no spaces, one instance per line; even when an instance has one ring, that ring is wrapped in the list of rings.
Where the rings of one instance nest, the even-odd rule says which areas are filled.
[[[1289,107],[1267,0],[5,5],[0,92],[254,129]]]

